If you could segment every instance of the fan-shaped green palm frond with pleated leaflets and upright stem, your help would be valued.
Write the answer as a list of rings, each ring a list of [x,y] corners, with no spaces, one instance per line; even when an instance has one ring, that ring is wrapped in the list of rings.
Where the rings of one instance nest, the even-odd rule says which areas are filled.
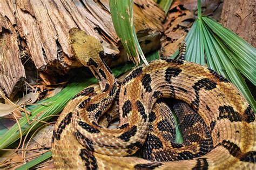
[[[198,5],[200,9],[200,1]],[[200,10],[185,40],[186,60],[205,65],[206,59],[208,67],[237,86],[255,112],[255,100],[242,77],[256,85],[255,48],[213,19],[201,16]]]

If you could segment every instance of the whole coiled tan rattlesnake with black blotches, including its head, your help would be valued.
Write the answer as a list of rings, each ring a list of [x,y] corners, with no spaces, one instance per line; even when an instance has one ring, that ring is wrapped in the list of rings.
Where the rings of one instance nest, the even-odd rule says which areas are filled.
[[[74,55],[99,86],[78,93],[60,114],[52,137],[56,168],[255,168],[255,115],[226,78],[185,60],[159,59],[120,84],[100,59],[96,38],[75,28],[69,34]],[[159,98],[177,99],[182,144],[174,142],[170,108]],[[106,128],[117,117],[118,127]],[[140,148],[143,158],[134,157]]]

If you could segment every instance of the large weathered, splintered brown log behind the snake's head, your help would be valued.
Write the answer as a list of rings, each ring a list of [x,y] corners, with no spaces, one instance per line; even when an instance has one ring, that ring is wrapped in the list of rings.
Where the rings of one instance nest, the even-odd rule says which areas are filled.
[[[144,52],[159,48],[164,12],[151,0],[134,2],[134,26]],[[111,63],[126,60],[122,47],[118,50],[121,43],[106,0],[0,0],[0,9],[0,90],[9,98],[30,77],[28,70],[37,69],[45,83],[52,84],[56,76],[81,66],[68,47],[68,31],[73,27],[102,41],[107,55],[118,54],[118,62]]]

